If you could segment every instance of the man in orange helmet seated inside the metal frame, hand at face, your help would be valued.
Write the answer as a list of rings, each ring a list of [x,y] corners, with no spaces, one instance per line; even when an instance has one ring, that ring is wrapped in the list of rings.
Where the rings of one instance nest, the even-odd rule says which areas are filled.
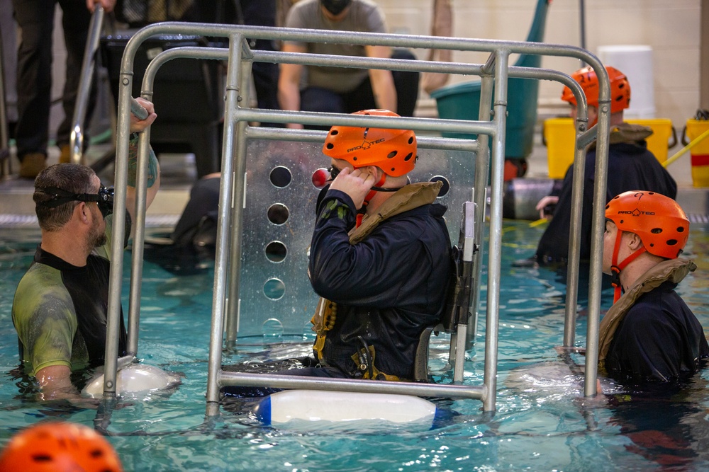
[[[318,198],[308,265],[322,297],[311,320],[317,338],[313,357],[279,373],[413,379],[418,340],[440,321],[452,274],[446,208],[435,203],[442,183],[409,183],[416,152],[411,130],[330,129],[332,180]]]

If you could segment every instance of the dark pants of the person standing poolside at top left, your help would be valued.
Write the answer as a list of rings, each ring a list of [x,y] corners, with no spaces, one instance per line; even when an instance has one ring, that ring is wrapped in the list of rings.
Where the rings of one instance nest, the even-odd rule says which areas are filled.
[[[12,1],[15,19],[22,32],[17,53],[16,142],[20,160],[28,153],[47,154],[52,91],[52,30],[57,3],[63,11],[62,26],[67,49],[67,74],[62,95],[65,118],[57,129],[57,145],[61,146],[69,144],[91,13],[86,8],[85,0]],[[95,89],[92,87],[86,122],[89,122],[96,101]]]

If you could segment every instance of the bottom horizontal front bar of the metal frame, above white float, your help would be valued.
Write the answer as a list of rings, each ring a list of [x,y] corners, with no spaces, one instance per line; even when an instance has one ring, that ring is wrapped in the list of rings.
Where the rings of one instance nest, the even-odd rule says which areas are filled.
[[[261,386],[275,388],[305,388],[327,391],[352,391],[357,393],[391,393],[413,396],[440,396],[449,398],[481,399],[481,386],[421,384],[417,382],[383,382],[360,379],[324,379],[296,375],[250,374],[246,372],[220,372],[220,384],[228,386]]]

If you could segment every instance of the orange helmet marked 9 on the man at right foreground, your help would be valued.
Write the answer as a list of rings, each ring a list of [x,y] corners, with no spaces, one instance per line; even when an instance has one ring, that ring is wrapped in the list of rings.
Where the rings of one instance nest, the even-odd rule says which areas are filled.
[[[679,257],[689,237],[689,220],[683,209],[656,192],[621,193],[605,206],[605,218],[619,230],[640,236],[645,251],[662,258]]]

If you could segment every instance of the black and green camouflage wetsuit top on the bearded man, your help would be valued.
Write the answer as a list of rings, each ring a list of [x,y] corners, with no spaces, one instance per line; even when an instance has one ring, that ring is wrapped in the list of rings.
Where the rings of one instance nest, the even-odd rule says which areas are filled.
[[[89,255],[84,267],[38,246],[12,307],[20,359],[31,374],[52,365],[77,370],[104,364],[112,222],[113,217],[106,218],[108,240]],[[127,241],[127,213],[126,226]],[[126,338],[121,311],[118,355],[125,355]]]

